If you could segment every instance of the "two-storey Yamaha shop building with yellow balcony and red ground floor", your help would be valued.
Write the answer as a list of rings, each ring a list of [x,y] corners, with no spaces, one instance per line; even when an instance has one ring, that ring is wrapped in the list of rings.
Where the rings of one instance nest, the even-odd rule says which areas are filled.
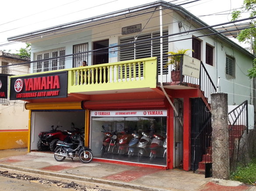
[[[190,31],[207,26],[182,7],[157,1],[8,38],[32,44],[31,74],[11,77],[10,90],[11,100],[29,102],[29,150],[37,149],[41,131],[51,125],[70,129],[74,122],[85,127],[94,160],[196,170],[211,131],[210,94],[218,77],[229,105],[253,104],[255,97],[246,76],[254,56],[213,28]],[[171,80],[173,66],[161,67],[161,49],[163,65],[167,52],[190,49],[191,57],[183,58],[184,79]],[[78,67],[83,60],[89,66]],[[102,153],[102,126],[120,136],[155,132],[167,137],[167,149],[132,151],[128,137],[124,147],[110,144]]]

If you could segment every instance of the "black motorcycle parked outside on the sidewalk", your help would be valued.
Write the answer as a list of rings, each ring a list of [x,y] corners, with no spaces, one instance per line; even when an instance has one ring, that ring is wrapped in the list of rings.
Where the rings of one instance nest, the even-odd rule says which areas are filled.
[[[65,160],[66,157],[73,158],[79,156],[79,159],[82,163],[89,163],[92,161],[92,150],[88,147],[85,147],[85,139],[81,134],[75,134],[74,132],[67,131],[70,134],[71,143],[65,141],[58,141],[57,147],[54,151],[54,158],[55,160],[61,162]],[[79,142],[79,144],[77,144]]]

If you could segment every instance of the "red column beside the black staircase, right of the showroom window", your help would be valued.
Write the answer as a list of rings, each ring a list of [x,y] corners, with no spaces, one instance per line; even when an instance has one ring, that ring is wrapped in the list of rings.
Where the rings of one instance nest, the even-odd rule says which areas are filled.
[[[191,102],[184,98],[183,113],[183,170],[191,168]]]

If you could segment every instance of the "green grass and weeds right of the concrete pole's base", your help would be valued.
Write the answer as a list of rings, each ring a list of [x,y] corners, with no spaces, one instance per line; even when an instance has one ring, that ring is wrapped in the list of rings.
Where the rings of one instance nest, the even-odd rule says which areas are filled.
[[[231,172],[230,180],[254,184],[256,181],[256,158],[253,158],[246,166],[239,164],[237,170]]]

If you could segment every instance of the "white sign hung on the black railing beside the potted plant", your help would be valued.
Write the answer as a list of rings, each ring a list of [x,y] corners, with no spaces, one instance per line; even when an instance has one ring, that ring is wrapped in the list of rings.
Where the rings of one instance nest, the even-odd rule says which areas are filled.
[[[200,60],[184,55],[183,65],[182,65],[182,75],[199,78],[200,64],[201,64]]]

